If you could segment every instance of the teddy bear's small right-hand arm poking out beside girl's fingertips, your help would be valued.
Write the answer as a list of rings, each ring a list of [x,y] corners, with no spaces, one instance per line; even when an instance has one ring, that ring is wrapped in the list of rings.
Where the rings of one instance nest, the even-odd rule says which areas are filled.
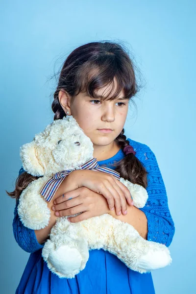
[[[133,184],[124,178],[120,178],[120,182],[124,184],[128,188],[133,198],[134,206],[137,208],[142,208],[145,206],[147,202],[147,190],[138,184]]]

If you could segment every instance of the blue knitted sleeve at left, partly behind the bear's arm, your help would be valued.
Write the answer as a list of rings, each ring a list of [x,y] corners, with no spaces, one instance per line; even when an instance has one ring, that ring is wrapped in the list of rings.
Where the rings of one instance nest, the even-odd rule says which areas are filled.
[[[23,171],[24,170],[21,168],[19,174],[21,174]],[[18,204],[19,200],[16,202],[14,209],[14,219],[12,222],[14,238],[23,250],[29,253],[33,253],[40,248],[43,248],[44,244],[41,245],[38,243],[34,230],[29,229],[23,225],[18,215]]]

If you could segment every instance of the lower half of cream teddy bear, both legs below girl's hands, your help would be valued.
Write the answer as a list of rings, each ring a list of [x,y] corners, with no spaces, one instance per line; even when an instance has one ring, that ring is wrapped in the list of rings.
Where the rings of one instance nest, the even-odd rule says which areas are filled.
[[[76,223],[66,218],[57,220],[42,251],[49,269],[59,277],[72,278],[83,270],[89,249],[103,248],[141,273],[172,261],[165,245],[143,239],[133,226],[109,214]]]

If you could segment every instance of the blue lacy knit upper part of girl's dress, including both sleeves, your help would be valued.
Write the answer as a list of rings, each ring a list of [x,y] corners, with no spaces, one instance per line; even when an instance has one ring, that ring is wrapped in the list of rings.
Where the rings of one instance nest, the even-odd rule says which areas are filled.
[[[135,156],[143,163],[148,174],[147,174],[147,194],[148,200],[144,208],[141,210],[146,214],[147,217],[147,240],[154,241],[158,243],[165,244],[169,246],[172,242],[172,238],[175,232],[174,223],[170,214],[168,207],[168,198],[166,193],[165,184],[156,157],[152,150],[145,144],[136,142],[129,139],[130,145],[136,151]],[[100,166],[107,166],[108,168],[115,169],[115,167],[110,167],[110,164],[120,161],[124,157],[123,150],[113,157],[98,161]],[[21,168],[19,174],[24,172]],[[19,201],[16,203],[14,210],[14,220],[13,220],[13,232],[14,237],[18,245],[24,249],[26,252],[35,252],[43,245],[37,242],[34,230],[26,228],[18,216],[17,207]]]

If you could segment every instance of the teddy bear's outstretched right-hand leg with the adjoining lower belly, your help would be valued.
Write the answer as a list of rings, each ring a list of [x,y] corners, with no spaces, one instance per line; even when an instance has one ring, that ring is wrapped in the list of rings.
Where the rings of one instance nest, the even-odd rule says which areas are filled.
[[[165,245],[145,240],[126,222],[109,214],[87,221],[88,225],[85,221],[81,223],[86,229],[89,249],[103,248],[115,254],[131,270],[143,273],[163,268],[172,261]]]

